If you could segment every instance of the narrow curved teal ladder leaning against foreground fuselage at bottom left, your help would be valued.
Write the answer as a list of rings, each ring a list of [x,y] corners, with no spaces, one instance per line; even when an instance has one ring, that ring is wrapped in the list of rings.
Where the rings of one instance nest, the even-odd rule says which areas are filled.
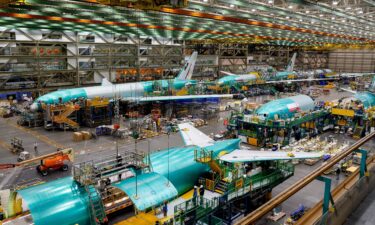
[[[85,190],[90,203],[91,223],[99,225],[107,221],[107,216],[104,211],[104,205],[100,194],[93,185],[85,185]]]

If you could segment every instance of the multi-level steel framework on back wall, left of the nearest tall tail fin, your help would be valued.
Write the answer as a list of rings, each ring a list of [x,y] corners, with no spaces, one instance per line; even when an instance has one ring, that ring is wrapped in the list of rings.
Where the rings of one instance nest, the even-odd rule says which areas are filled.
[[[183,63],[183,41],[95,32],[0,31],[0,90],[40,94],[89,86],[103,78],[132,82],[174,78]]]

